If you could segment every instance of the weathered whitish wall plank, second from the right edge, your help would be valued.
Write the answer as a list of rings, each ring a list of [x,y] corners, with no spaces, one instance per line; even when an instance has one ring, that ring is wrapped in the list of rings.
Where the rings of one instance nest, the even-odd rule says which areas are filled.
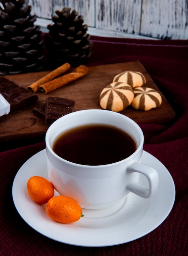
[[[139,34],[141,0],[96,0],[96,28]]]

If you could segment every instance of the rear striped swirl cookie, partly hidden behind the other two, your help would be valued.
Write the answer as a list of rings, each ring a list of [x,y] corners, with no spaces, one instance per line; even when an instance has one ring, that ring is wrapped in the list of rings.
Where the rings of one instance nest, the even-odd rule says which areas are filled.
[[[132,88],[140,87],[146,83],[146,79],[140,72],[126,71],[114,77],[114,82],[123,82],[131,85]]]

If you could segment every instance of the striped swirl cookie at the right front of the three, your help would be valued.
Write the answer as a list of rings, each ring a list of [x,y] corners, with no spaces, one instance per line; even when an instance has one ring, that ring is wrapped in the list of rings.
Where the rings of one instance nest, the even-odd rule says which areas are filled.
[[[162,98],[159,92],[148,87],[134,88],[134,99],[131,106],[136,110],[150,110],[158,108],[162,103]]]

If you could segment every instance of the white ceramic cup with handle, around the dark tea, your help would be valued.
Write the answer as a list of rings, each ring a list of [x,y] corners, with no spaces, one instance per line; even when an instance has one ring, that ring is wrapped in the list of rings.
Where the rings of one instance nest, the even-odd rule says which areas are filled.
[[[52,150],[53,142],[64,131],[85,124],[113,125],[127,132],[136,141],[137,149],[129,157],[112,164],[89,166],[75,164],[59,157]],[[47,169],[49,180],[61,194],[76,200],[85,209],[110,207],[130,193],[143,198],[158,188],[158,174],[151,166],[140,163],[144,135],[129,117],[108,110],[80,110],[55,121],[46,132]],[[139,184],[140,173],[148,186]]]

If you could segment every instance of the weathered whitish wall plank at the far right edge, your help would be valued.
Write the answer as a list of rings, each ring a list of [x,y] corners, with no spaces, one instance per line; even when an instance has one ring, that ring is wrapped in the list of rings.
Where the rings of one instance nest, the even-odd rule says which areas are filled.
[[[141,35],[188,39],[187,0],[142,0]]]

